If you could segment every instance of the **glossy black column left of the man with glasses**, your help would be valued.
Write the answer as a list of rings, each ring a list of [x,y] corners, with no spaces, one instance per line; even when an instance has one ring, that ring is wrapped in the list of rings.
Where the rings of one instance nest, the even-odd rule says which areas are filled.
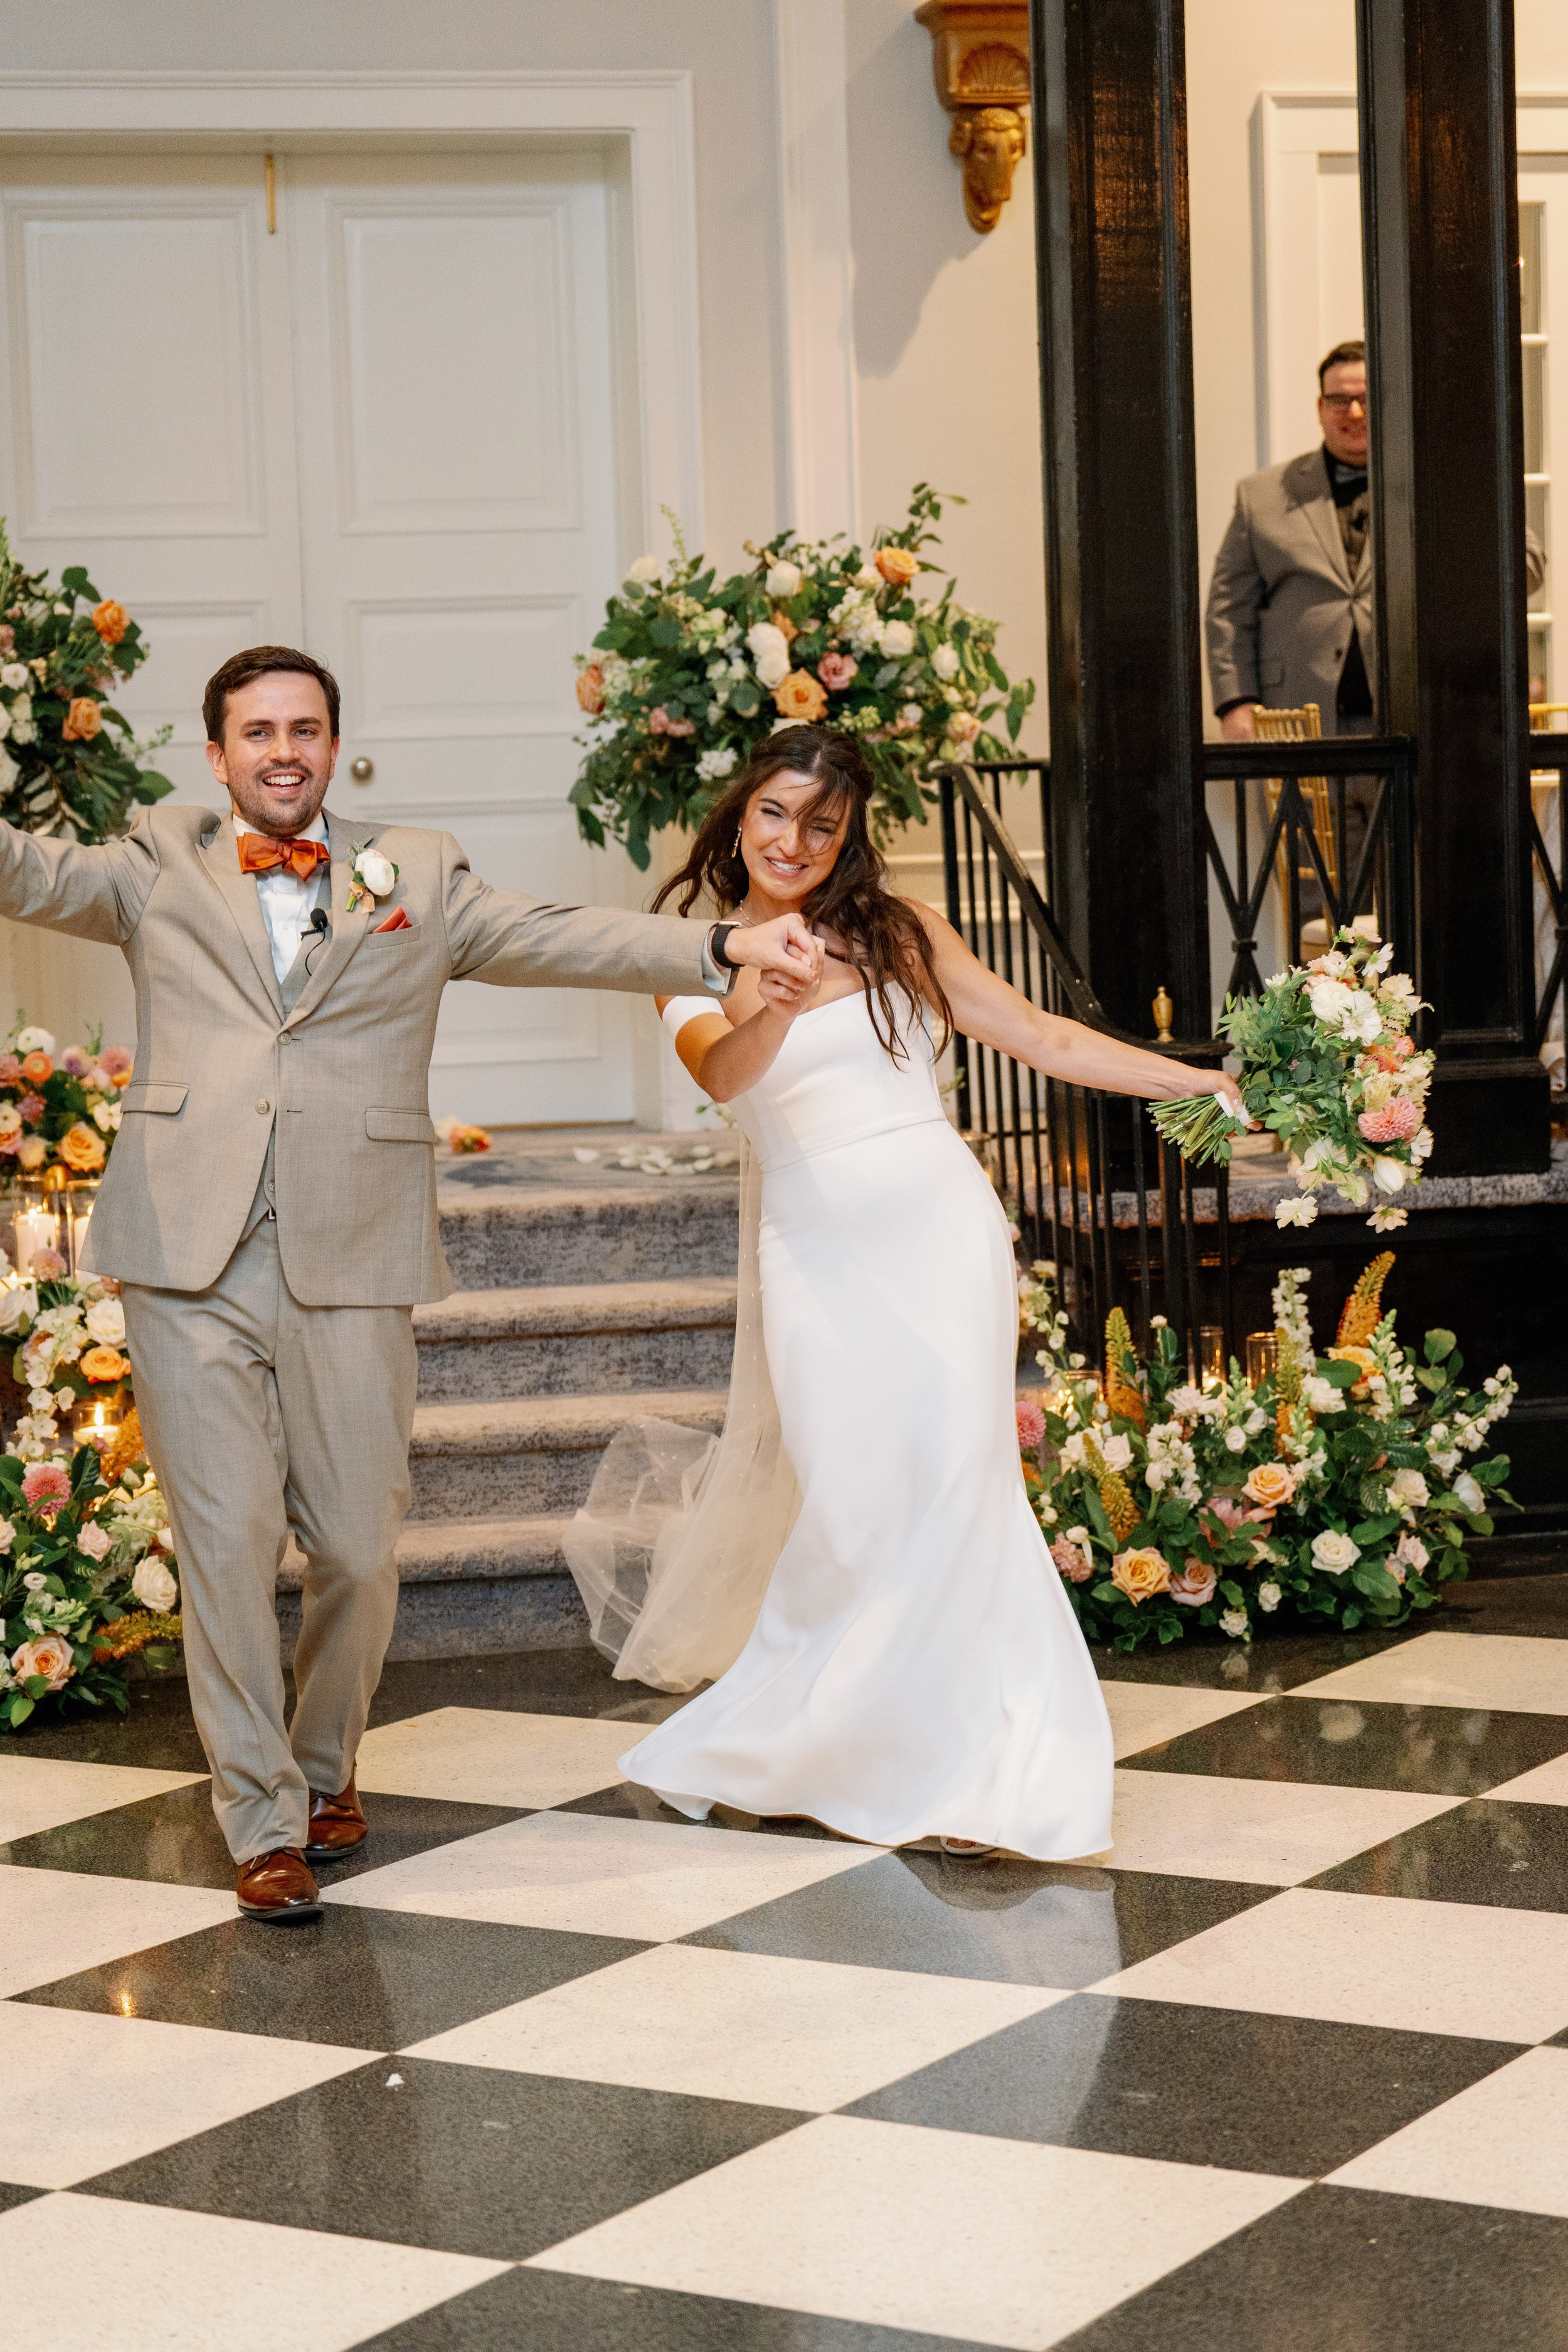
[[[1032,0],[1056,894],[1112,1021],[1206,1037],[1182,0]]]

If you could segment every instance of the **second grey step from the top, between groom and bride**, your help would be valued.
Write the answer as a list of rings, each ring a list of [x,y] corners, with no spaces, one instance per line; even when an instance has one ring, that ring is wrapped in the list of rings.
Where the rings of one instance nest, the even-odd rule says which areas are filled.
[[[421,1404],[729,1381],[733,1275],[454,1291],[414,1310]]]

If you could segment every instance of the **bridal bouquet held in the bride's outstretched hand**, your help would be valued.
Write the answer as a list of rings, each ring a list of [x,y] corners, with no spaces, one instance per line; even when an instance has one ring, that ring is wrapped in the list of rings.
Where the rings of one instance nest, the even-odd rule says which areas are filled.
[[[1326,1183],[1356,1209],[1382,1195],[1368,1218],[1373,1232],[1406,1223],[1389,1202],[1420,1181],[1432,1152],[1432,1054],[1410,1042],[1422,1000],[1403,971],[1387,969],[1392,955],[1373,938],[1338,931],[1305,971],[1274,974],[1258,997],[1225,1000],[1220,1030],[1241,1054],[1241,1098],[1291,1152],[1298,1190],[1274,1204],[1279,1225],[1309,1225]],[[1213,1094],[1154,1103],[1152,1117],[1187,1160],[1201,1162],[1229,1162],[1241,1131]]]

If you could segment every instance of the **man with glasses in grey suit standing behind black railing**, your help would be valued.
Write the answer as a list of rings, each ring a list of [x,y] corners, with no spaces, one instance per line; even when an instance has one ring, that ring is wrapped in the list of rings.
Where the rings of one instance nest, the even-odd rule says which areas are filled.
[[[1373,731],[1373,555],[1366,492],[1366,343],[1319,372],[1324,445],[1237,482],[1208,588],[1208,682],[1220,734],[1246,743],[1253,703],[1316,703],[1324,734]],[[1530,593],[1547,557],[1526,532]]]

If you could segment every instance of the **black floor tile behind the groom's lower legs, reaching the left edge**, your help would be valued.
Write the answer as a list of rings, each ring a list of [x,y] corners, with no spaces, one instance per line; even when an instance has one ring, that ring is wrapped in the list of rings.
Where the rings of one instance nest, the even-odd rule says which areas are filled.
[[[517,1820],[515,1806],[447,1804],[433,1797],[364,1797],[369,1839],[341,1863],[317,1863],[322,1886],[386,1863],[402,1863],[430,1846],[449,1846],[456,1837],[496,1830]],[[0,1846],[0,1860],[26,1863],[33,1870],[87,1870],[106,1879],[169,1879],[176,1886],[233,1886],[235,1865],[212,1811],[212,1788],[174,1788],[162,1797],[120,1804],[110,1813],[87,1813],[85,1820],[38,1830]]]

